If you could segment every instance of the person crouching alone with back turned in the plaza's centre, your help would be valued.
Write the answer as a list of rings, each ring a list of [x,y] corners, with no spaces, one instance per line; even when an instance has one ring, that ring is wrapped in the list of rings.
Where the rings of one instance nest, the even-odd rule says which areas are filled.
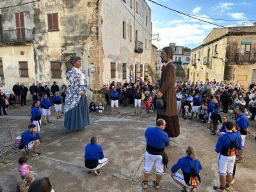
[[[100,175],[100,168],[108,163],[108,159],[104,158],[103,150],[98,138],[93,136],[91,143],[88,143],[85,147],[84,164],[88,168],[89,173],[93,172],[95,175]]]

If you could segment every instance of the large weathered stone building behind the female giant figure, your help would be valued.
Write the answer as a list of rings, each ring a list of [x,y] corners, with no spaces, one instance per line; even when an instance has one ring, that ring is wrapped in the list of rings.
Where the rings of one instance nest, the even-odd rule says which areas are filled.
[[[0,76],[7,90],[17,81],[67,84],[71,55],[82,58],[95,93],[102,84],[148,74],[152,23],[145,0],[0,1],[6,6],[0,10]]]

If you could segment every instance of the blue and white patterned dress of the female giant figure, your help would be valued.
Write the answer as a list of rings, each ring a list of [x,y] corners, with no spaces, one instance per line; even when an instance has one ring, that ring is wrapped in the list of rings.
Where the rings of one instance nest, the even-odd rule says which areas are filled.
[[[86,93],[90,89],[86,82],[84,70],[73,67],[67,73],[70,85],[67,88],[65,99],[65,121],[64,127],[70,131],[81,130],[90,125],[88,100],[81,92]]]

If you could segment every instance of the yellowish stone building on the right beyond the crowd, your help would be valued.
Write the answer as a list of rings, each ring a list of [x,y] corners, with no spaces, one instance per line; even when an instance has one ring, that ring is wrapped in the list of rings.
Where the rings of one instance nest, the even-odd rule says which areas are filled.
[[[256,24],[214,28],[204,43],[191,50],[188,79],[198,81],[256,82]]]

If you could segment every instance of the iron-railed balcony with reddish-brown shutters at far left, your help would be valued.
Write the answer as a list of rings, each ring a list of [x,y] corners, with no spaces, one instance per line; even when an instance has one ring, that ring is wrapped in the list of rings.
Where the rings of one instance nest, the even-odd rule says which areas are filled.
[[[24,44],[32,41],[32,29],[22,28],[0,31],[0,44]]]

